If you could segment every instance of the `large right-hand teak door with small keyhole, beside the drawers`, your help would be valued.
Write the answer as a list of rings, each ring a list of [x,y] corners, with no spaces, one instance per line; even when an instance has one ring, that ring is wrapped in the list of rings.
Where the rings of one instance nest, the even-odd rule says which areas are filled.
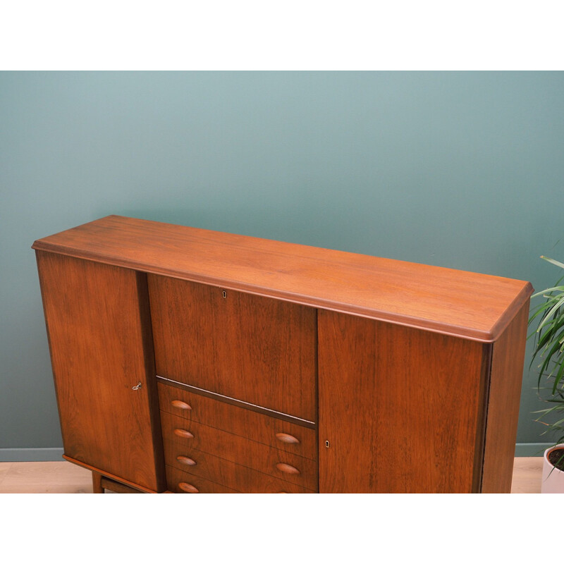
[[[482,343],[323,310],[318,332],[319,491],[473,491]]]

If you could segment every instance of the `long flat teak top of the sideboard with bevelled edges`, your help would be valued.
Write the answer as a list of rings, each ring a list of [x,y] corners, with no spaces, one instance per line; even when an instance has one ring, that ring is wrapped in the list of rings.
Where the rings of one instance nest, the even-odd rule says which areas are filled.
[[[487,343],[533,291],[510,278],[123,216],[32,248]]]

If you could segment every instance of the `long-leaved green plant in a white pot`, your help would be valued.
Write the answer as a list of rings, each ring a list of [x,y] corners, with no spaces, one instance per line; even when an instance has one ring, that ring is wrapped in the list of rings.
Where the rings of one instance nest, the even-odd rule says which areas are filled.
[[[564,269],[564,264],[548,257],[542,259]],[[546,288],[532,297],[542,295],[544,302],[534,309],[529,324],[539,318],[537,330],[533,333],[534,350],[531,364],[535,358],[541,360],[539,364],[539,380],[537,388],[541,390],[541,381],[548,381],[549,397],[544,401],[551,403],[551,407],[540,410],[537,421],[546,425],[543,434],[556,435],[555,445],[544,453],[541,492],[544,494],[564,494],[564,286],[560,286],[563,278],[553,288]],[[546,422],[547,416],[555,419]]]

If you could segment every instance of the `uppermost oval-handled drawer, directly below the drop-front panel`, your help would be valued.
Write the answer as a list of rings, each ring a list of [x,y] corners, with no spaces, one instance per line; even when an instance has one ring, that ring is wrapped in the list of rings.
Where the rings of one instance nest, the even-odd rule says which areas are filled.
[[[317,460],[317,431],[159,382],[161,411]]]

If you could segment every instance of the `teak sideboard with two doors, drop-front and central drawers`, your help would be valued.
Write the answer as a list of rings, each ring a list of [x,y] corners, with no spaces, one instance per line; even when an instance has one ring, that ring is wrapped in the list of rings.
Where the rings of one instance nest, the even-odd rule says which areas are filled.
[[[510,491],[530,283],[123,216],[32,248],[94,491]]]

